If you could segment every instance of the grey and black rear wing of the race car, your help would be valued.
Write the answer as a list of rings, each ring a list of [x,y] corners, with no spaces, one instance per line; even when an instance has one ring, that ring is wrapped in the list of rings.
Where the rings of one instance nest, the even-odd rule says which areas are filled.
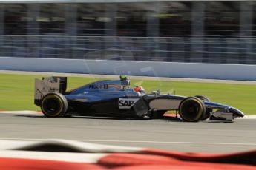
[[[67,77],[48,77],[35,80],[34,103],[41,106],[42,98],[51,92],[65,94],[67,89]]]

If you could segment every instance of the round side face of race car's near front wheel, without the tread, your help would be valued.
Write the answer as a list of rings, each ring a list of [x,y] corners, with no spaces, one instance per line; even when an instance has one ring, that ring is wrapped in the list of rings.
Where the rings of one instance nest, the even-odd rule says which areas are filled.
[[[194,99],[185,101],[180,106],[180,114],[183,117],[183,119],[187,121],[199,120],[202,113],[203,106],[201,106],[201,104]]]

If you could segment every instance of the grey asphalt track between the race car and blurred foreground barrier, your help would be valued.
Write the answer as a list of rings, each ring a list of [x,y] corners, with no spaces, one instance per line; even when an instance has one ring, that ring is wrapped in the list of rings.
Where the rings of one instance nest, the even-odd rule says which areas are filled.
[[[0,114],[0,139],[67,139],[181,152],[243,152],[256,149],[256,119],[239,118],[234,123],[186,123]]]

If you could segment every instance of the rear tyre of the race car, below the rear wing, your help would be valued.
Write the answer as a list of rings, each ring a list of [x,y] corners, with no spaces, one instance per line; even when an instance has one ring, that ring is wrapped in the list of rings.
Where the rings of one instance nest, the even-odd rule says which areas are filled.
[[[48,118],[59,118],[68,110],[68,101],[60,93],[50,93],[42,99],[41,110]]]

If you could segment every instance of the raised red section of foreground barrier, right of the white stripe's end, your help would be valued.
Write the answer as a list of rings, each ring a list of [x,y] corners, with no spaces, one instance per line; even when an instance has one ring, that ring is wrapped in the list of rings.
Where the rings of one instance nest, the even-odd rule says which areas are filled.
[[[152,167],[159,169],[163,166],[168,169],[199,169],[199,170],[209,170],[212,169],[232,169],[232,170],[256,170],[255,166],[248,165],[236,165],[230,163],[202,163],[202,162],[191,162],[185,160],[177,160],[173,157],[163,157],[157,155],[149,154],[109,154],[108,156],[102,157],[99,160],[99,165],[105,166],[111,169],[117,169],[119,167],[128,167],[121,169],[137,169],[147,170],[153,169]],[[130,168],[129,168],[130,167]],[[162,169],[161,169],[162,170]]]

